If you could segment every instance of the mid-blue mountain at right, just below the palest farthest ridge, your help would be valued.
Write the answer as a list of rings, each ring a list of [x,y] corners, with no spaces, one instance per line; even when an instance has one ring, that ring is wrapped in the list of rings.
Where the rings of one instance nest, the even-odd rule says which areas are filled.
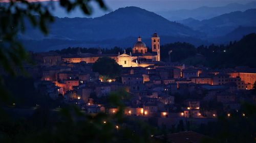
[[[244,12],[236,11],[222,14],[214,18],[198,21],[195,19],[180,21],[194,30],[206,33],[208,37],[221,37],[239,26],[250,27],[256,25],[256,9],[249,9]]]

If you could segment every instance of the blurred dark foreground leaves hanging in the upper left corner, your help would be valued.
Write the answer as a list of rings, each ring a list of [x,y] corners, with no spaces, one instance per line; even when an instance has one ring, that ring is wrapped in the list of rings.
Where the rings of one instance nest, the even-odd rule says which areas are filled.
[[[106,10],[106,6],[102,0],[93,0],[102,9]],[[71,12],[76,8],[83,11],[84,14],[92,13],[92,1],[89,0],[59,0],[59,5],[67,12]],[[28,52],[20,43],[17,35],[25,33],[26,27],[33,26],[38,28],[43,34],[48,34],[48,25],[54,21],[51,13],[54,8],[53,3],[43,5],[35,2],[30,3],[28,0],[10,0],[9,3],[1,3],[0,5],[0,66],[10,75],[15,76],[15,69],[18,67],[23,69],[24,62],[32,63]],[[0,98],[7,100],[7,91],[4,87],[4,79],[0,75]]]

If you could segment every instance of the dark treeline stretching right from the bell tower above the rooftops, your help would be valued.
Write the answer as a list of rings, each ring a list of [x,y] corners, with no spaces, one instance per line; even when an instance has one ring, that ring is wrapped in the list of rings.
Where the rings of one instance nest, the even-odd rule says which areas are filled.
[[[201,45],[195,47],[188,43],[176,42],[161,46],[161,60],[167,62],[168,51],[172,62],[184,62],[187,65],[205,65],[211,68],[236,66],[256,67],[256,34],[244,36],[240,41],[227,45]]]

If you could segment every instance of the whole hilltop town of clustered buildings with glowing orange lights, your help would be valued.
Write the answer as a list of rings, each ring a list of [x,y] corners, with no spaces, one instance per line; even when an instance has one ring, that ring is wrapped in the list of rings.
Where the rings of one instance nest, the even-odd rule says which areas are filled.
[[[230,112],[239,111],[242,102],[255,102],[252,89],[256,69],[212,70],[162,62],[157,33],[152,35],[151,48],[148,52],[139,37],[130,53],[102,54],[100,48],[97,54],[80,50],[77,54],[32,53],[37,66],[26,70],[43,95],[76,105],[89,114],[115,114],[118,107],[110,106],[105,99],[113,92],[125,91],[130,99],[124,99],[124,115],[143,121],[155,118],[159,127],[170,128],[180,121],[198,125],[215,121],[219,115],[232,116]],[[102,58],[113,59],[120,66],[117,77],[93,71],[93,65]],[[110,67],[101,68],[108,71]]]

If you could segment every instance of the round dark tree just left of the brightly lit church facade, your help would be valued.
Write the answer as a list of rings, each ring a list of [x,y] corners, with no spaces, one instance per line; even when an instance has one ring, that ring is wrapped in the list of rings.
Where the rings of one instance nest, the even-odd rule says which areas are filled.
[[[102,57],[93,64],[93,71],[108,78],[116,78],[120,75],[121,67],[114,59]]]

